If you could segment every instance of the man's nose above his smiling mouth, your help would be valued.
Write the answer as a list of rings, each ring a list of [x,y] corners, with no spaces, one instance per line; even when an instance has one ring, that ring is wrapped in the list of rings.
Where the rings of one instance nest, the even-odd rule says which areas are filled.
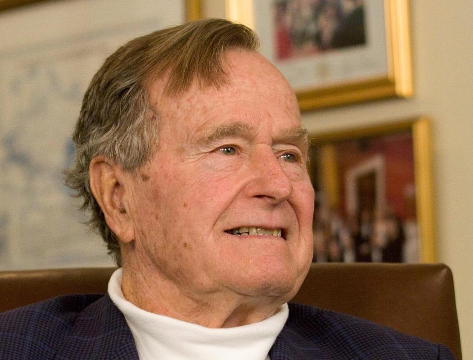
[[[291,179],[271,149],[255,152],[249,166],[251,180],[246,184],[246,195],[279,204],[291,196]]]

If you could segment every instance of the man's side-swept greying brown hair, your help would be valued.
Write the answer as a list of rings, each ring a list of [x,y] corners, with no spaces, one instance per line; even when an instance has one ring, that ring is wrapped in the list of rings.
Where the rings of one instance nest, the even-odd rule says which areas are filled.
[[[110,55],[92,78],[72,140],[75,164],[65,171],[66,184],[83,198],[88,224],[101,234],[117,265],[118,238],[105,222],[89,183],[89,165],[104,156],[136,173],[158,149],[159,108],[148,102],[148,86],[166,78],[163,93],[183,94],[194,81],[219,87],[227,81],[226,52],[256,51],[257,35],[223,19],[206,19],[137,37]]]

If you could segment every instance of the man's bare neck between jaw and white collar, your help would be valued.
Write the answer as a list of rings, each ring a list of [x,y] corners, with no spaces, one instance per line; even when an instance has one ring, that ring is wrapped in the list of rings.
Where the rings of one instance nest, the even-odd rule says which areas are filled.
[[[128,301],[145,311],[204,327],[257,323],[273,315],[284,302],[272,297],[252,298],[226,288],[192,290],[175,284],[156,268],[123,265],[122,292]]]

